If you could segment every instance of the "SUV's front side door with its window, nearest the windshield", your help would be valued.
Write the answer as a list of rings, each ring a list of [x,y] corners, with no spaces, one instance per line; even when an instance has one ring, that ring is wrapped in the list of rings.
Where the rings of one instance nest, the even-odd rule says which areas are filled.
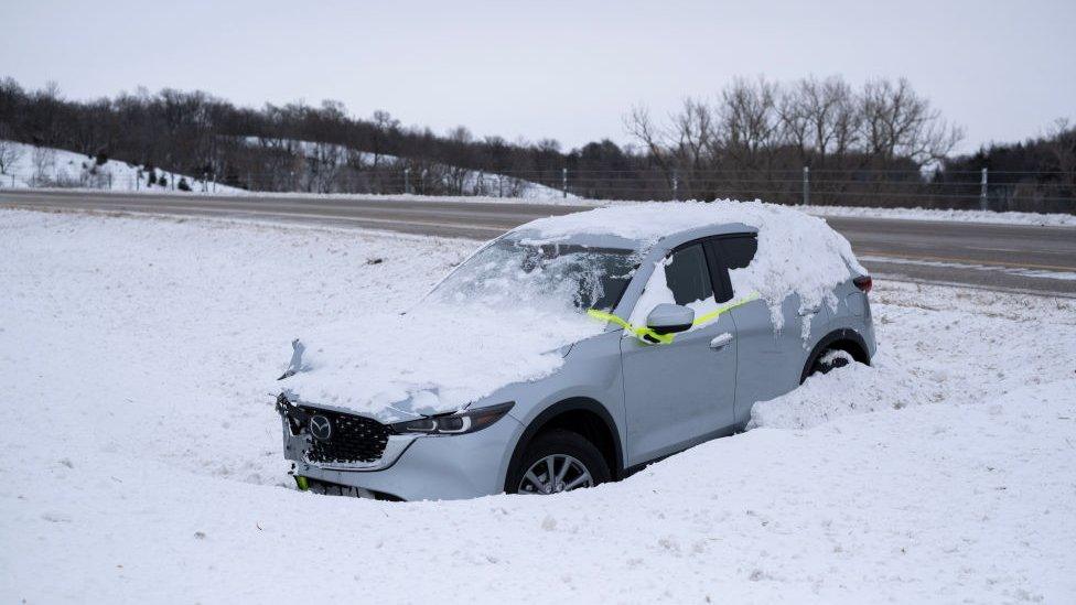
[[[655,271],[664,271],[675,302],[696,309],[697,317],[717,307],[703,241],[677,248]],[[660,285],[654,279],[647,283]],[[642,313],[633,316],[645,317],[650,310],[636,311]],[[671,344],[622,338],[628,464],[730,432],[735,421],[735,326],[728,313],[677,334]]]

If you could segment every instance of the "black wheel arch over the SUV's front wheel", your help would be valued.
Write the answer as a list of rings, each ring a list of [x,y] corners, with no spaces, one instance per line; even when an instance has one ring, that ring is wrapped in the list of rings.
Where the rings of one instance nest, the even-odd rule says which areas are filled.
[[[621,478],[624,450],[613,415],[594,399],[572,397],[546,408],[524,429],[508,461],[505,491],[509,491],[508,483],[530,442],[544,431],[552,429],[567,429],[589,440],[602,453],[613,479]]]

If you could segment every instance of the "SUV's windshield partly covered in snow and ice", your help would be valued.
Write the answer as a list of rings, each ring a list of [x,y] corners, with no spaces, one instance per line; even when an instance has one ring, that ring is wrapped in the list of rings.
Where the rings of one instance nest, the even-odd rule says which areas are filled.
[[[635,250],[508,238],[483,248],[430,294],[433,300],[491,306],[610,310],[638,266]]]

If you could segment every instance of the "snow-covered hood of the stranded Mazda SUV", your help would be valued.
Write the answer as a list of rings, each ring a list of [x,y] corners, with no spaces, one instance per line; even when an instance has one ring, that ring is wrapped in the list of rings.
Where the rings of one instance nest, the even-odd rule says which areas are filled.
[[[434,304],[367,315],[293,341],[273,386],[304,403],[398,422],[461,410],[506,385],[544,378],[563,364],[566,346],[603,329],[583,314],[528,309]]]

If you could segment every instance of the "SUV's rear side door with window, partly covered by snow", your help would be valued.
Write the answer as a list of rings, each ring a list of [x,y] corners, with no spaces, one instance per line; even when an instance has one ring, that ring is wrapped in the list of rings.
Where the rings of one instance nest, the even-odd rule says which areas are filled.
[[[714,239],[712,247],[720,257],[724,279],[729,270],[746,267],[754,258],[758,244],[754,235],[735,235]],[[731,284],[730,284],[731,287]],[[742,293],[741,293],[742,294]],[[825,328],[829,311],[800,309],[797,294],[786,298],[781,305],[782,323],[776,329],[765,301],[756,300],[732,310],[736,326],[736,396],[735,419],[738,425],[751,419],[751,407],[782,396],[799,385],[804,360],[808,353],[803,331],[809,321],[811,342],[814,334]]]

